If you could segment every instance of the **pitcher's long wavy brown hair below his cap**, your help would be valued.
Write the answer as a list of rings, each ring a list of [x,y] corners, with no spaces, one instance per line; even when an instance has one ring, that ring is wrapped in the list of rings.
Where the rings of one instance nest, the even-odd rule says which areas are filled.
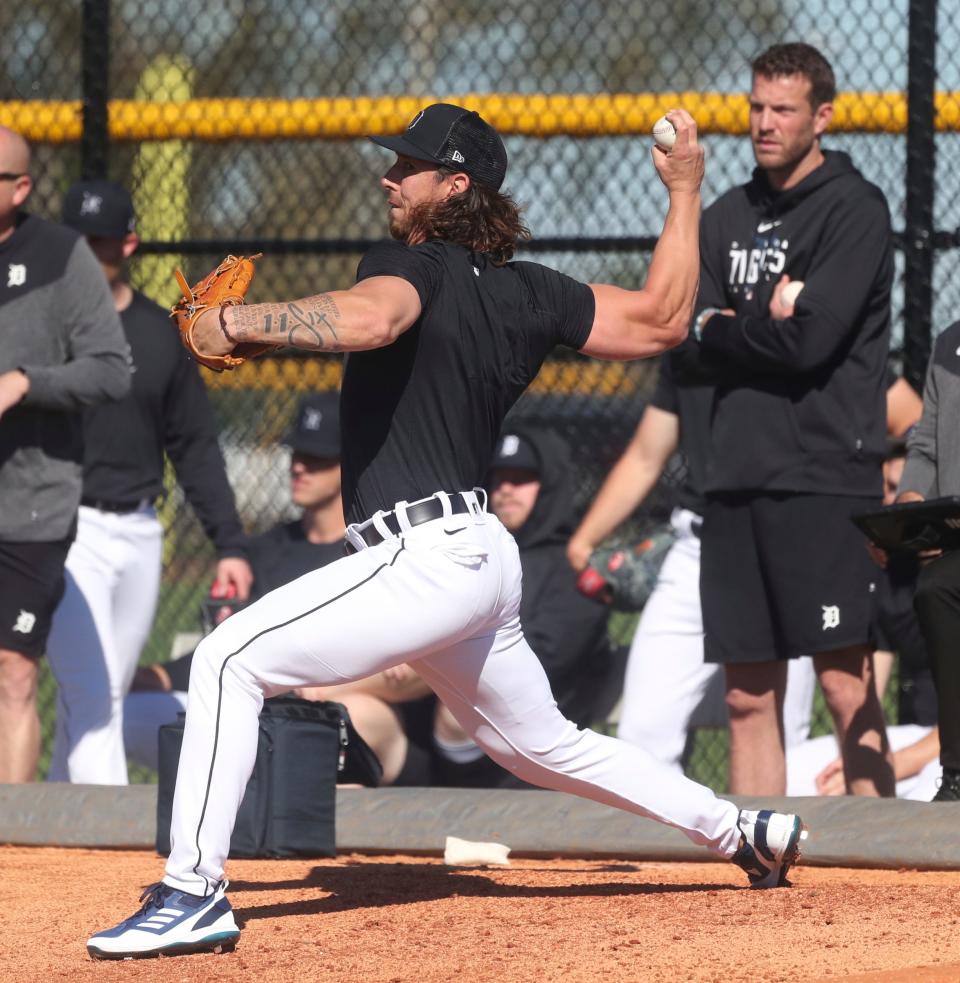
[[[441,167],[437,180],[456,173]],[[520,207],[509,195],[471,181],[462,194],[418,205],[406,238],[421,242],[440,239],[466,246],[486,253],[495,266],[502,266],[513,258],[519,243],[530,239],[530,230],[523,224]]]

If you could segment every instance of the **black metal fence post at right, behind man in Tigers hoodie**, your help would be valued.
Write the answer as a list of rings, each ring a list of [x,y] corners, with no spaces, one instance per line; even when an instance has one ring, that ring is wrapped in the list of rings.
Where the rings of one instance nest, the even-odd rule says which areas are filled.
[[[923,387],[933,309],[934,90],[938,0],[910,0],[907,54],[907,187],[903,305],[904,375]]]

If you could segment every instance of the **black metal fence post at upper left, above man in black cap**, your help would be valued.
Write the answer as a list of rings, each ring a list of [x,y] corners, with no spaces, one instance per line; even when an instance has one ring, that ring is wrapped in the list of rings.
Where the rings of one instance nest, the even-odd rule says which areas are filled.
[[[107,119],[110,0],[83,0],[81,31],[83,135],[80,139],[80,172],[85,179],[105,178],[110,145]]]

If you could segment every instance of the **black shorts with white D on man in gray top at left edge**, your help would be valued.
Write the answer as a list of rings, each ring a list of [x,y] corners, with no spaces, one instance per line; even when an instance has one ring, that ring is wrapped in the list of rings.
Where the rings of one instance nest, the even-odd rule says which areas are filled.
[[[32,659],[43,655],[63,597],[70,542],[0,542],[0,648]]]

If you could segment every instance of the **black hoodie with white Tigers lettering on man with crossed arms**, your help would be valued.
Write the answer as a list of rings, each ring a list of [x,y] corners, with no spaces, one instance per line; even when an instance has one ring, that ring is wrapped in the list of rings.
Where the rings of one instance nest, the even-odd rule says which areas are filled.
[[[893,253],[883,193],[850,158],[777,192],[759,168],[708,208],[697,310],[720,380],[707,491],[879,495]],[[794,316],[769,315],[780,277]]]

